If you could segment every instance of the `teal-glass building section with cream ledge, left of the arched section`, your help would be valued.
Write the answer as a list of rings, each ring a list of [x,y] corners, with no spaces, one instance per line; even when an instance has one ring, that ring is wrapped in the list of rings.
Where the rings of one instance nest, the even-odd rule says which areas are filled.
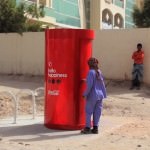
[[[45,17],[39,21],[52,28],[86,28],[84,3],[82,0],[16,0],[17,3],[44,4]]]

